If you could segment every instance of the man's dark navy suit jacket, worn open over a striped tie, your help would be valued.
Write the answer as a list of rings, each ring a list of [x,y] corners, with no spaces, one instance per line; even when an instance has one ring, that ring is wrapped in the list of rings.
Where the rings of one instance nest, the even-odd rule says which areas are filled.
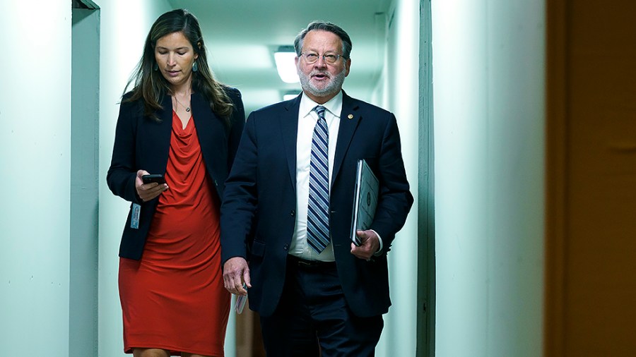
[[[285,265],[295,229],[296,138],[300,96],[252,112],[221,206],[223,262],[249,262],[249,307],[269,316],[283,291]],[[329,227],[338,276],[349,307],[360,317],[386,313],[387,252],[413,204],[395,116],[343,92],[340,129],[331,177]],[[351,254],[351,215],[358,159],[379,178],[379,200],[371,229],[384,248],[371,261]]]

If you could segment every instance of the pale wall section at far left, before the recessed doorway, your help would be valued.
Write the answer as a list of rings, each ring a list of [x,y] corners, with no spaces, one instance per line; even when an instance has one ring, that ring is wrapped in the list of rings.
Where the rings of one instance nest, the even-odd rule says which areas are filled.
[[[0,43],[0,349],[68,356],[71,2],[3,1]]]

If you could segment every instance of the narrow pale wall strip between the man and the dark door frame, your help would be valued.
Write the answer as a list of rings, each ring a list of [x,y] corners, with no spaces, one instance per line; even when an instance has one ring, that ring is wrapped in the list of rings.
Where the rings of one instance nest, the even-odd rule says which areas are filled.
[[[389,19],[393,18],[389,26]],[[418,200],[419,1],[395,0],[387,13],[387,46],[374,102],[398,121],[402,155],[411,193]],[[353,39],[355,46],[355,39]],[[355,71],[353,63],[351,71]],[[411,208],[389,253],[391,302],[377,356],[415,356],[417,305],[418,207]]]

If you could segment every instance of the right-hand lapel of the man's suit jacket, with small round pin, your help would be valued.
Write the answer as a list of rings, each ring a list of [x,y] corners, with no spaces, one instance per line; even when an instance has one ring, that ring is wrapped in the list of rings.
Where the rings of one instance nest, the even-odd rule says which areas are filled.
[[[342,167],[342,163],[346,152],[348,150],[349,145],[351,144],[351,139],[353,138],[353,133],[355,133],[355,128],[358,128],[358,123],[360,123],[360,112],[358,111],[358,104],[355,104],[355,101],[346,95],[344,90],[342,91],[342,111],[340,113],[340,128],[338,129],[338,141],[336,143],[336,155],[334,157],[334,169],[333,174],[331,175],[331,185],[334,185],[336,182],[336,178],[338,177],[338,173]]]

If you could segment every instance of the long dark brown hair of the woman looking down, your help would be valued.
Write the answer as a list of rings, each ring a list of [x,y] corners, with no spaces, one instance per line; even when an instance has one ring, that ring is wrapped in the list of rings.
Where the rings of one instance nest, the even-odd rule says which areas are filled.
[[[194,53],[199,57],[195,59],[199,71],[192,72],[192,90],[200,92],[210,103],[212,111],[223,118],[226,124],[230,124],[232,115],[232,101],[225,93],[224,85],[214,79],[214,75],[208,66],[206,45],[201,35],[199,20],[187,10],[179,8],[168,11],[153,23],[143,46],[143,55],[137,67],[124,88],[124,94],[129,85],[134,82],[134,88],[124,102],[133,102],[143,99],[144,114],[155,120],[159,120],[156,111],[162,109],[161,99],[165,94],[173,94],[170,83],[163,78],[160,71],[155,71],[155,45],[165,35],[173,32],[182,32],[188,39]]]

